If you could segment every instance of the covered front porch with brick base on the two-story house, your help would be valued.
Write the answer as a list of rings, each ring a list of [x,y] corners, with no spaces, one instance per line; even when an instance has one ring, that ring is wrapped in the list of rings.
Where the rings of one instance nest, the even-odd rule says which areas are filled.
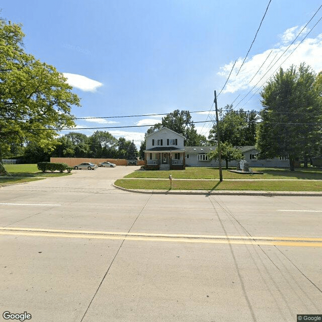
[[[146,170],[184,170],[184,150],[144,151]]]

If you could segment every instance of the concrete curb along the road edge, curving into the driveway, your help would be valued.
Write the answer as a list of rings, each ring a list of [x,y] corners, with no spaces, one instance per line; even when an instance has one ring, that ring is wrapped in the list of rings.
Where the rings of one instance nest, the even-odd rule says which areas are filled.
[[[306,197],[322,197],[322,192],[314,191],[248,191],[248,190],[140,190],[140,189],[126,189],[116,186],[113,187],[127,192],[153,194],[153,195],[221,195],[221,196],[306,196]]]

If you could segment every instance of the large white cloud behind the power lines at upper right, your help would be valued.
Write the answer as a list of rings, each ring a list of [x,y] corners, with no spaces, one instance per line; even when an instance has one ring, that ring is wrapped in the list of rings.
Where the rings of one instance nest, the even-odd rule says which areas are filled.
[[[297,30],[298,29],[299,28],[297,28]],[[292,33],[294,33],[293,29],[288,29],[284,33],[285,40],[290,39]],[[300,41],[296,41],[294,44],[292,44],[285,54],[283,54],[283,56],[281,55],[287,49],[287,45],[281,45],[279,48],[267,49],[262,53],[254,55],[245,62],[239,74],[236,75],[241,63],[243,62],[243,58],[238,58],[235,67],[231,72],[229,81],[222,93],[234,93],[239,90],[250,90],[254,86],[255,89],[258,89],[262,87],[266,81],[268,81],[271,75],[277,72],[281,64],[281,67],[284,70],[292,64],[299,66],[301,62],[305,62],[307,65],[310,65],[315,72],[322,70],[322,59],[320,58],[322,52],[322,34],[319,34],[315,38],[306,38],[290,55],[299,42]],[[259,70],[259,67],[263,64],[271,51],[272,53],[270,54],[269,58],[261,70],[256,74],[256,72]],[[280,56],[281,58],[277,61]],[[289,58],[287,58],[288,56]],[[218,75],[228,77],[232,65],[233,62],[230,62],[229,64],[220,67],[221,71],[218,72]],[[253,78],[255,74],[256,76]]]

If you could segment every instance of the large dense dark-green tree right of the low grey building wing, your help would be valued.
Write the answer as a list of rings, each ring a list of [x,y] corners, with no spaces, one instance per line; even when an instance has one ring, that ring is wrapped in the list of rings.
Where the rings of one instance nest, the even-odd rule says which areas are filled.
[[[316,75],[304,63],[274,75],[261,92],[259,157],[288,156],[294,171],[296,159],[316,153],[321,142],[319,95]]]

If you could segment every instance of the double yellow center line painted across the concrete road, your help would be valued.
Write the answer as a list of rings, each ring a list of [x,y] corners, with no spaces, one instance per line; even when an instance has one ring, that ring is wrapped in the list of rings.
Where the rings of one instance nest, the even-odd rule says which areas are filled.
[[[24,235],[43,237],[93,238],[93,239],[126,239],[143,241],[172,241],[183,243],[239,244],[322,247],[322,238],[305,237],[264,237],[264,236],[222,236],[222,235],[188,235],[159,234],[140,232],[108,232],[87,230],[60,230],[42,228],[0,227],[0,235]]]

